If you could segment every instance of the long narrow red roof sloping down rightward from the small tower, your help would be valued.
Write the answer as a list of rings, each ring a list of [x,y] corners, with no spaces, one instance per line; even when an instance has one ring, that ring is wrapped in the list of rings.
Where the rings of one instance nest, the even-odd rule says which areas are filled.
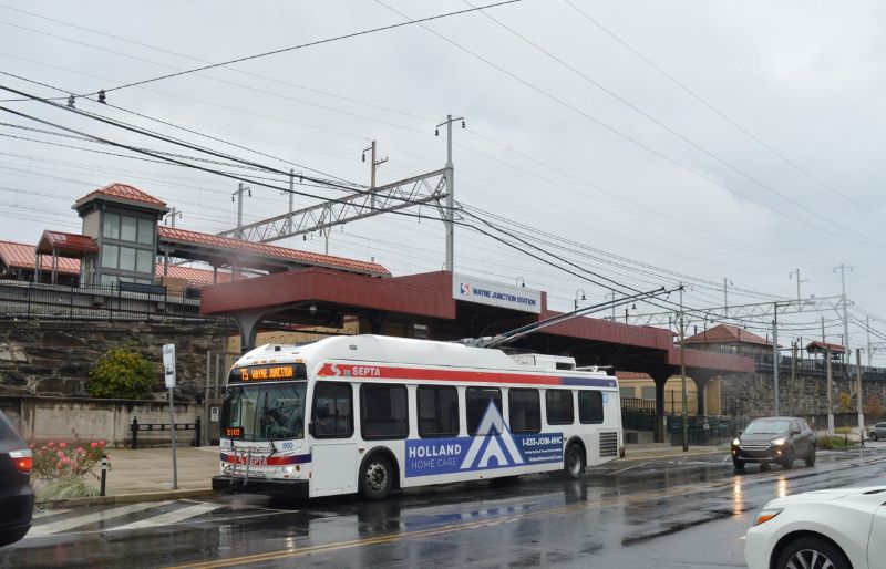
[[[307,266],[348,270],[364,275],[368,273],[372,276],[384,277],[390,277],[391,275],[388,269],[375,262],[358,261],[354,259],[346,259],[343,257],[333,257],[331,255],[320,255],[316,252],[301,251],[298,249],[288,249],[286,247],[277,247],[274,245],[244,241],[241,239],[233,239],[230,237],[222,237],[218,235],[199,234],[197,231],[178,229],[177,227],[159,226],[157,227],[157,231],[159,239],[166,241],[202,245],[216,249],[227,249],[230,251],[243,251],[265,258],[297,261]]]

